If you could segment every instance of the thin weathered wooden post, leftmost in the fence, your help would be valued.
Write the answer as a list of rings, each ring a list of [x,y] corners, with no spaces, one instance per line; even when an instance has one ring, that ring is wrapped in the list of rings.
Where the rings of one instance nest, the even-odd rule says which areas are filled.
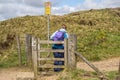
[[[19,58],[19,66],[22,65],[22,54],[21,54],[21,45],[20,45],[20,36],[16,36],[17,40],[17,50],[18,50],[18,58]]]

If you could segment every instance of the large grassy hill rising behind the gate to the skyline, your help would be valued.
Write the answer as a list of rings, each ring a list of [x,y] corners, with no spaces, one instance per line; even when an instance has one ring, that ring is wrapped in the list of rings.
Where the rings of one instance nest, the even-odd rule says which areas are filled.
[[[61,24],[67,25],[68,33],[77,34],[77,51],[87,59],[96,61],[120,56],[120,8],[52,15],[50,34],[59,29]],[[13,48],[15,36],[26,33],[47,39],[47,17],[27,15],[1,21],[0,60],[6,54],[6,61],[17,59]]]

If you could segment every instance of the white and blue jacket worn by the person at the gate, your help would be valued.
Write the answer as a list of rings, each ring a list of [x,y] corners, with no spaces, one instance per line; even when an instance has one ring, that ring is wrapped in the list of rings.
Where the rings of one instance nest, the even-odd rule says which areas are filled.
[[[65,32],[65,34],[64,34],[64,39],[66,39],[66,38],[69,37],[69,36],[68,36],[68,33],[67,33],[67,31],[66,31],[65,29],[61,28],[59,31]],[[57,32],[58,32],[58,30],[55,31],[55,32],[50,36],[50,39],[51,39],[51,40],[53,40],[53,38],[54,38],[54,36],[55,36],[55,34],[56,34]],[[53,47],[56,48],[56,49],[63,49],[63,48],[64,48],[63,45],[61,45],[61,46],[56,46],[55,44],[53,45]]]

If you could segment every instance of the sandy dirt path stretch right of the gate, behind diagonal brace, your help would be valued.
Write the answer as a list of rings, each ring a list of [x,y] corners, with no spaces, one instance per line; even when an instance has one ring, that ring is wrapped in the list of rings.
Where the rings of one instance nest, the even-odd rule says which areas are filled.
[[[100,71],[115,71],[118,70],[120,57],[112,58],[105,61],[92,62]],[[93,71],[86,63],[78,62],[77,68],[83,69],[86,71]]]

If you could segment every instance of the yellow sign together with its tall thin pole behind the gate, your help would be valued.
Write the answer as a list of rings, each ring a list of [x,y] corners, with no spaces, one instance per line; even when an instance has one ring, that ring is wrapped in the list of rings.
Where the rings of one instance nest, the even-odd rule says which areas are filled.
[[[50,36],[50,14],[51,14],[51,3],[45,2],[45,15],[47,15],[47,26],[48,26],[48,41]]]

